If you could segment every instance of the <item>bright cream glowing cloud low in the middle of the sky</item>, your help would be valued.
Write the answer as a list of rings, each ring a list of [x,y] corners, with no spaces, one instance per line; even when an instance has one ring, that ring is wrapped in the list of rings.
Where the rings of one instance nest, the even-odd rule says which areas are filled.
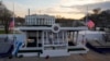
[[[37,11],[40,12],[40,11]],[[41,11],[41,14],[59,15],[67,19],[80,19],[84,16],[79,10],[65,9],[65,8],[47,8]]]

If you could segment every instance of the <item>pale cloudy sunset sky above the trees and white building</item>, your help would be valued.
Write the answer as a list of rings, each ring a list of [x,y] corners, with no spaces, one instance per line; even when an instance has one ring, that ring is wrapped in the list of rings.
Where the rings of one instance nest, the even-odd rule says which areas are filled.
[[[66,19],[81,19],[92,9],[110,9],[110,0],[2,0],[7,8],[18,16],[30,14],[48,14]]]

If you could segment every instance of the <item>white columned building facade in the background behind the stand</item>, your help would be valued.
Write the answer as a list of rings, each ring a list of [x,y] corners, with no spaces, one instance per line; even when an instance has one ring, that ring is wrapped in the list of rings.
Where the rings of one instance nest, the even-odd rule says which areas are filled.
[[[55,23],[55,17],[50,15],[26,15],[25,16],[25,25],[52,25]]]

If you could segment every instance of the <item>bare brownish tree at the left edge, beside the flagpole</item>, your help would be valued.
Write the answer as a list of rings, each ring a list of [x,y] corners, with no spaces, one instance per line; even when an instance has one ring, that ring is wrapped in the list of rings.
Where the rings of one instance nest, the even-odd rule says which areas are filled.
[[[9,22],[11,21],[12,12],[0,1],[0,23],[4,25],[6,34],[9,34]]]

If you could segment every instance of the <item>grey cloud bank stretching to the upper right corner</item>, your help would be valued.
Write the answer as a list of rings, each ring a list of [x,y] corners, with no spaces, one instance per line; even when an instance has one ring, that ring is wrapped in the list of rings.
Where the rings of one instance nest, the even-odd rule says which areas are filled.
[[[99,1],[99,0],[98,0]],[[102,0],[103,1],[103,0]],[[69,7],[65,7],[65,5],[61,5],[62,8],[69,8],[69,9],[77,9],[79,10],[79,13],[86,13],[87,8],[88,11],[90,12],[94,9],[100,8],[101,10],[107,10],[110,9],[110,1],[105,1],[105,2],[97,2],[97,3],[89,3],[89,4],[81,4],[81,5],[69,5]],[[77,11],[76,11],[77,12]]]

